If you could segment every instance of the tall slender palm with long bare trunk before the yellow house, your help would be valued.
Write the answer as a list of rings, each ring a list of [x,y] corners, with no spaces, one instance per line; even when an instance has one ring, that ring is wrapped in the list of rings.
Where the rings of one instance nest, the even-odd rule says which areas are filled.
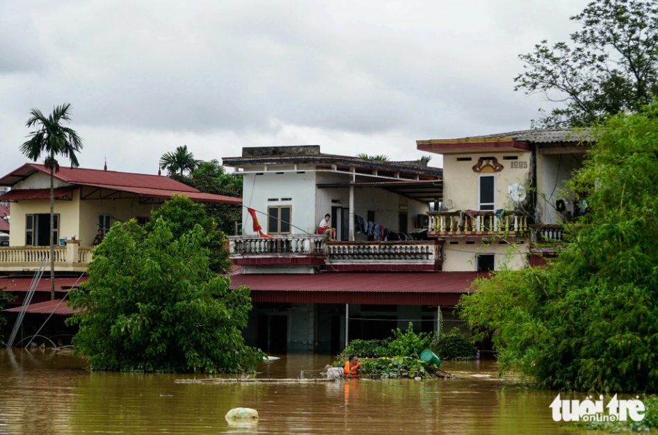
[[[45,117],[41,110],[32,108],[26,126],[37,126],[37,130],[31,131],[30,140],[21,145],[21,152],[32,161],[37,161],[41,154],[46,158],[43,165],[50,170],[50,297],[55,299],[55,240],[54,231],[54,172],[59,172],[59,163],[55,156],[61,155],[71,161],[71,167],[79,167],[78,158],[75,153],[79,152],[83,145],[78,134],[68,127],[62,125],[63,121],[70,122],[71,105],[68,103],[55,106],[53,113]]]

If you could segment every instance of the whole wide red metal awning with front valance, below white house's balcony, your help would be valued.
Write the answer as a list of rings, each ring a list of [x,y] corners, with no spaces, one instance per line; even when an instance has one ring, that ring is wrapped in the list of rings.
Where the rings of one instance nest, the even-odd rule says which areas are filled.
[[[253,302],[455,305],[486,272],[323,272],[236,274],[232,289],[248,286]]]

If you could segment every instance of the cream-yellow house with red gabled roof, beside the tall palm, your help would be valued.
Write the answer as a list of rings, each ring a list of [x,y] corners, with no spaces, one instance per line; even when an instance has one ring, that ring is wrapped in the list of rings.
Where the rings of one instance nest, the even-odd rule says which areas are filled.
[[[57,246],[54,251],[56,299],[51,299],[49,267],[45,277],[35,287],[28,313],[45,320],[55,308],[57,315],[70,315],[61,304],[70,286],[86,279],[77,277],[86,272],[92,256],[92,242],[99,229],[106,233],[115,222],[136,218],[146,222],[152,211],[172,197],[184,195],[195,202],[233,204],[241,199],[210,195],[168,177],[108,170],[61,167],[54,174],[54,231]],[[11,229],[8,246],[0,247],[0,288],[17,296],[22,305],[35,271],[50,257],[50,174],[43,165],[27,163],[0,178],[0,186],[11,186],[0,196],[0,202],[11,204]],[[75,278],[73,277],[75,276]],[[19,310],[10,308],[9,312]],[[60,318],[55,321],[63,327]],[[50,330],[57,329],[50,327]],[[29,335],[29,327],[24,331]]]

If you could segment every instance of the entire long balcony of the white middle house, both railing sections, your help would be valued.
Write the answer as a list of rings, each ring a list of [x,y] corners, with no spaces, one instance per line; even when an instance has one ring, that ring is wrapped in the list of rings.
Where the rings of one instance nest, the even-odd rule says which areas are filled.
[[[294,268],[327,271],[440,270],[441,242],[328,241],[326,236],[291,234],[261,238],[230,236],[233,263],[244,273],[294,272]],[[285,268],[285,269],[284,269]]]

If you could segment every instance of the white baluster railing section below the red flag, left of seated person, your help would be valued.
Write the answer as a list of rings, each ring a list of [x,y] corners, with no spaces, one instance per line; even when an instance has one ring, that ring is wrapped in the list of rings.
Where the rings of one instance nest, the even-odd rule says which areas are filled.
[[[291,234],[273,238],[230,236],[228,239],[232,256],[303,256],[323,254],[326,236]]]

